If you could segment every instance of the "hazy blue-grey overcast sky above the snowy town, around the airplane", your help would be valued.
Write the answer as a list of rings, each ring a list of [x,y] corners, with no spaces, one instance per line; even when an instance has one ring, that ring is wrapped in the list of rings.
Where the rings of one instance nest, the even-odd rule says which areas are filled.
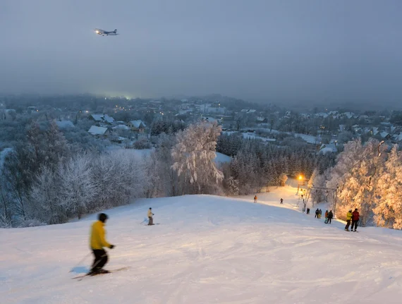
[[[0,93],[401,102],[401,16],[399,0],[0,0]]]

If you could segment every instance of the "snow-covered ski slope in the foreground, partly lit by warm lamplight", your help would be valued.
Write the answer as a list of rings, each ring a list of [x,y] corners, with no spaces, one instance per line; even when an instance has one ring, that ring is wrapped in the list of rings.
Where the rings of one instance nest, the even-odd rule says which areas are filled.
[[[402,303],[401,231],[346,232],[301,213],[295,194],[286,186],[257,204],[185,195],[107,210],[116,248],[105,268],[130,269],[82,281],[71,278],[92,262],[75,267],[96,214],[0,229],[0,303]],[[159,225],[140,224],[148,207]]]

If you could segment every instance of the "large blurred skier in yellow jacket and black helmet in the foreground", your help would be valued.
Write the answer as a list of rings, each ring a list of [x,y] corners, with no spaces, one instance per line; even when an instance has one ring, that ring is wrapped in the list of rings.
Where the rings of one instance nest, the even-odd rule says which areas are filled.
[[[98,220],[92,224],[91,236],[90,236],[90,247],[92,253],[95,256],[94,262],[92,263],[92,268],[89,274],[104,274],[109,273],[109,271],[102,269],[107,262],[107,254],[103,249],[108,247],[110,249],[114,248],[114,245],[109,244],[105,236],[104,224],[108,219],[107,215],[104,213],[99,214]]]

